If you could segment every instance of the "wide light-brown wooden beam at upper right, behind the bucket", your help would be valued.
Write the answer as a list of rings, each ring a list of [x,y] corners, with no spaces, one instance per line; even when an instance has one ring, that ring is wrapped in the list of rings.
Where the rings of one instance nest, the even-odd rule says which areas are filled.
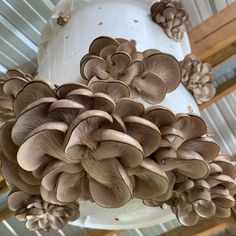
[[[236,54],[236,3],[189,32],[192,52],[216,66]]]

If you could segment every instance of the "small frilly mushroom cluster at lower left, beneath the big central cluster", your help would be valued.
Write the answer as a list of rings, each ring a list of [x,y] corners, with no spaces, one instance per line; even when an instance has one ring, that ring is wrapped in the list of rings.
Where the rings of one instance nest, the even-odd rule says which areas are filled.
[[[8,196],[8,206],[29,230],[61,229],[68,221],[79,218],[79,203],[56,205],[44,201],[40,195],[30,195],[14,189]]]

